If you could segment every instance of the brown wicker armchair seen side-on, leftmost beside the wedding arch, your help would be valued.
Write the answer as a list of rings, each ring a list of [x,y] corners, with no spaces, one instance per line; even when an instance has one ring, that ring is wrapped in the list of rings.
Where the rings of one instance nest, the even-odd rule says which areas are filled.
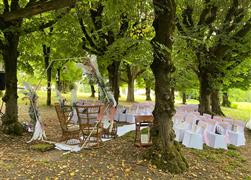
[[[61,107],[59,103],[56,103],[55,109],[62,129],[61,141],[66,141],[75,138],[81,141],[79,125],[75,125],[70,122],[73,112],[72,107],[71,106]]]

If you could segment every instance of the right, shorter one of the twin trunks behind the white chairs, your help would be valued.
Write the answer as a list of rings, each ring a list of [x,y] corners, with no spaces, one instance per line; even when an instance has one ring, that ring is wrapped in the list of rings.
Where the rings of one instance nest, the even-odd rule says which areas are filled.
[[[219,90],[214,90],[211,93],[211,106],[213,115],[225,116],[220,107]]]

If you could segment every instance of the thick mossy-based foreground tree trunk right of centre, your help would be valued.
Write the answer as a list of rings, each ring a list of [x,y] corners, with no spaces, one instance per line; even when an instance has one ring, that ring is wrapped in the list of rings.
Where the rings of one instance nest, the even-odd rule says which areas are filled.
[[[188,164],[174,141],[172,116],[175,114],[172,73],[175,71],[170,50],[175,29],[176,5],[174,0],[153,0],[155,37],[152,40],[154,61],[151,65],[155,77],[154,125],[151,129],[153,146],[148,158],[162,170],[181,173]],[[166,47],[166,48],[163,48]],[[168,49],[168,50],[167,50]]]

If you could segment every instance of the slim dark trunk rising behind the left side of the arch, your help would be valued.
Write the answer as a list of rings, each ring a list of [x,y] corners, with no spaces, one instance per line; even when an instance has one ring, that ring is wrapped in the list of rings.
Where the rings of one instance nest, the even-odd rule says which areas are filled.
[[[46,45],[43,45],[43,52],[44,52],[44,64],[45,69],[47,70],[47,100],[46,105],[51,106],[51,71],[52,71],[52,65],[48,68],[50,65],[50,47],[47,47]]]

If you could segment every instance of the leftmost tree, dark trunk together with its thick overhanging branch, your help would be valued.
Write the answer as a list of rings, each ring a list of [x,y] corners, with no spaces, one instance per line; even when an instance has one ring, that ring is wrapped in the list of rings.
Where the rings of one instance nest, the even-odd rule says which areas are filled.
[[[3,131],[7,134],[21,134],[22,127],[18,123],[17,108],[17,51],[20,35],[28,33],[30,29],[22,29],[24,18],[35,16],[37,14],[71,7],[75,1],[51,0],[51,1],[29,1],[23,7],[18,0],[3,1],[3,13],[0,14],[0,30],[3,33],[3,39],[0,40],[0,50],[3,55],[6,73],[6,91],[3,101],[6,103],[5,114],[2,117]],[[41,29],[51,25],[51,22],[37,25],[32,28]],[[32,23],[32,22],[31,22]]]

